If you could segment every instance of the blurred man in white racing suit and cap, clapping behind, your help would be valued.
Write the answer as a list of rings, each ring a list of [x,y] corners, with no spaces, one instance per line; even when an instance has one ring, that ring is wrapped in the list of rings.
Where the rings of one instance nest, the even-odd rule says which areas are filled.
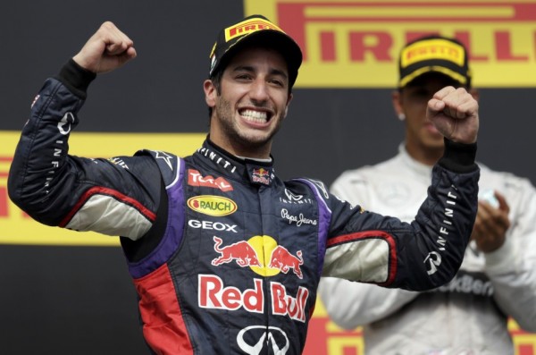
[[[441,49],[441,50],[439,50]],[[405,142],[378,165],[342,173],[331,192],[384,215],[412,220],[426,194],[443,140],[424,117],[434,88],[471,89],[465,46],[452,38],[418,38],[400,53],[393,93]],[[476,90],[471,91],[477,97]],[[536,331],[536,193],[512,173],[481,166],[472,241],[451,283],[431,292],[322,278],[319,294],[331,319],[364,326],[367,355],[514,354],[508,317]]]

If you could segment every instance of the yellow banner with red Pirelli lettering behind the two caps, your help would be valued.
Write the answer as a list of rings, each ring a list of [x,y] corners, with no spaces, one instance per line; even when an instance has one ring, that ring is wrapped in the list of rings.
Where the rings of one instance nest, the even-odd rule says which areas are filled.
[[[468,48],[476,88],[536,86],[536,2],[245,0],[297,40],[297,88],[395,88],[398,51],[441,34]]]

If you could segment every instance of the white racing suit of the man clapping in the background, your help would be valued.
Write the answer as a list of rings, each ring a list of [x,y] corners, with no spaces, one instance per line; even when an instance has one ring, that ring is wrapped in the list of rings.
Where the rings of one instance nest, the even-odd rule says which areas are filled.
[[[514,354],[507,329],[512,317],[536,332],[536,193],[531,182],[481,166],[481,192],[507,199],[507,241],[484,254],[474,242],[455,279],[433,292],[389,290],[374,284],[322,278],[319,294],[343,328],[364,325],[365,354]],[[431,167],[399,154],[378,165],[347,171],[331,192],[384,215],[412,220]]]

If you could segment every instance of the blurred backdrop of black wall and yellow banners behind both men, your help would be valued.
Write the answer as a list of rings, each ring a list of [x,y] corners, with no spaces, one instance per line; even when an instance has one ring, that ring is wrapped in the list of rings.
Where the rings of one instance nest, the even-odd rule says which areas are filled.
[[[147,353],[136,294],[117,242],[41,229],[14,207],[5,189],[14,145],[33,97],[103,21],[115,22],[134,40],[138,58],[100,75],[89,88],[77,130],[80,136],[87,134],[80,154],[114,156],[138,148],[163,148],[156,146],[161,134],[166,135],[163,149],[192,152],[207,131],[202,83],[217,31],[244,15],[264,13],[297,38],[306,55],[289,116],[272,151],[282,178],[308,176],[330,184],[343,170],[393,156],[404,133],[390,103],[398,79],[398,48],[415,34],[439,32],[465,40],[473,55],[474,86],[481,91],[479,160],[536,181],[531,156],[536,128],[536,2],[473,1],[474,15],[467,15],[462,1],[442,9],[435,9],[433,2],[389,2],[399,3],[400,9],[413,6],[415,13],[424,9],[423,18],[397,13],[382,3],[4,2],[0,353]],[[479,11],[499,5],[509,10],[507,15]],[[364,15],[367,7],[376,13]],[[103,144],[107,139],[123,141],[115,139],[116,133],[127,135],[119,147],[125,151],[103,152],[109,148]],[[310,354],[327,354],[328,339],[353,336],[333,328],[322,307],[311,329],[318,336],[309,336],[315,346]],[[523,339],[536,351],[533,336]],[[349,347],[354,352],[331,348],[330,353],[361,354],[360,343]]]

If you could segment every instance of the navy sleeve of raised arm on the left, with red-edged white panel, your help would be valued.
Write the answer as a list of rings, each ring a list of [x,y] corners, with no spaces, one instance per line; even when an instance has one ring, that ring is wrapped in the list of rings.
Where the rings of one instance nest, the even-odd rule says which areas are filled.
[[[136,240],[155,220],[158,168],[150,156],[69,155],[68,139],[95,78],[75,64],[46,80],[34,100],[10,167],[9,196],[40,223]]]

